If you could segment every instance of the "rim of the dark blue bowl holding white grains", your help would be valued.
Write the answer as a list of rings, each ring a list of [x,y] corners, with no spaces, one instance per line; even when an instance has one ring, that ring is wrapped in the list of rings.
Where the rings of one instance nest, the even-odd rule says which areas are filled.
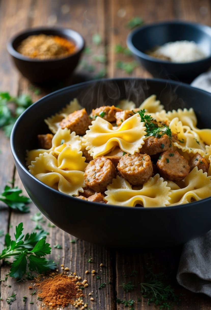
[[[132,30],[126,38],[126,43],[127,43],[127,47],[128,49],[136,56],[143,58],[145,60],[148,60],[152,63],[158,63],[158,64],[166,64],[166,65],[190,65],[190,64],[200,64],[202,62],[205,62],[207,60],[211,60],[211,53],[209,56],[201,59],[201,60],[196,60],[196,61],[190,61],[190,62],[173,62],[173,61],[167,61],[167,60],[161,60],[158,59],[156,57],[150,56],[148,54],[145,54],[144,52],[140,51],[139,49],[137,49],[133,43],[132,43],[132,38],[133,36],[138,33],[141,30],[147,29],[147,28],[153,28],[153,27],[157,27],[157,26],[168,26],[168,25],[184,25],[184,26],[191,26],[194,28],[198,28],[201,31],[207,33],[210,35],[210,39],[211,39],[211,27],[208,25],[204,25],[204,24],[199,24],[199,23],[194,23],[194,22],[188,22],[188,21],[182,21],[182,20],[169,20],[169,21],[162,21],[162,22],[157,22],[157,23],[151,23],[151,24],[146,24],[144,26],[138,27],[134,30]]]

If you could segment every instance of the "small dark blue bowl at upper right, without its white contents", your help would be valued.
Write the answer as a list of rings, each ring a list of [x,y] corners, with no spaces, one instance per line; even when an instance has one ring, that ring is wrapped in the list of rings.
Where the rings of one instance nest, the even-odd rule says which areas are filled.
[[[206,58],[189,63],[175,63],[146,54],[146,51],[153,47],[182,40],[196,42]],[[127,46],[134,57],[155,78],[190,83],[211,66],[211,28],[201,24],[182,21],[149,24],[129,33]]]

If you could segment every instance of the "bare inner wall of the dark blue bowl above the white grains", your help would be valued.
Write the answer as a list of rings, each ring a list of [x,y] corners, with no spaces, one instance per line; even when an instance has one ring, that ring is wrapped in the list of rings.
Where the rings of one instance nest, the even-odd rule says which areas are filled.
[[[200,24],[165,22],[146,25],[133,31],[130,40],[136,52],[140,51],[144,54],[147,50],[168,42],[194,41],[206,57],[211,56],[211,28]],[[155,61],[159,60],[155,59]]]

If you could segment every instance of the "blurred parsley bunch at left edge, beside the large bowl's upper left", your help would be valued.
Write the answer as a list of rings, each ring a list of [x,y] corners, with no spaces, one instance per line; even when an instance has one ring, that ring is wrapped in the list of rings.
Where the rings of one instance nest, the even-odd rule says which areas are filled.
[[[19,97],[13,97],[8,92],[0,93],[0,127],[3,128],[7,137],[10,137],[16,119],[32,103],[29,95],[22,94]]]

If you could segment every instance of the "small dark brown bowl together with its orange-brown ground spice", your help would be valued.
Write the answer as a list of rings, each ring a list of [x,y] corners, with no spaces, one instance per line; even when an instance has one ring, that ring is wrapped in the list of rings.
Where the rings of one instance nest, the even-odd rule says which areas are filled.
[[[7,44],[17,69],[37,84],[55,83],[69,78],[83,49],[84,38],[80,33],[56,27],[25,30],[11,38]]]

